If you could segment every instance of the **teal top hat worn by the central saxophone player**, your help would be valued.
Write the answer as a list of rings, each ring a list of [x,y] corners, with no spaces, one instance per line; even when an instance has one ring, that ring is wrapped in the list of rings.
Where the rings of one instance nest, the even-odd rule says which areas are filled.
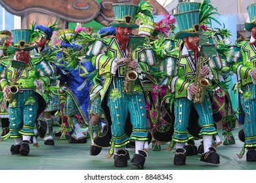
[[[114,22],[110,23],[112,27],[129,27],[132,29],[138,28],[135,24],[135,16],[139,6],[129,4],[113,4]]]

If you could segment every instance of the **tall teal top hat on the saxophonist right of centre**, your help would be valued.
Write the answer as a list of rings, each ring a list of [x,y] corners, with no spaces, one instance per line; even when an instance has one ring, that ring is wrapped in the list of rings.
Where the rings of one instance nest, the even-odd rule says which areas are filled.
[[[176,33],[175,39],[200,35],[200,5],[201,3],[178,4],[181,12],[173,14],[179,27],[179,32]]]

